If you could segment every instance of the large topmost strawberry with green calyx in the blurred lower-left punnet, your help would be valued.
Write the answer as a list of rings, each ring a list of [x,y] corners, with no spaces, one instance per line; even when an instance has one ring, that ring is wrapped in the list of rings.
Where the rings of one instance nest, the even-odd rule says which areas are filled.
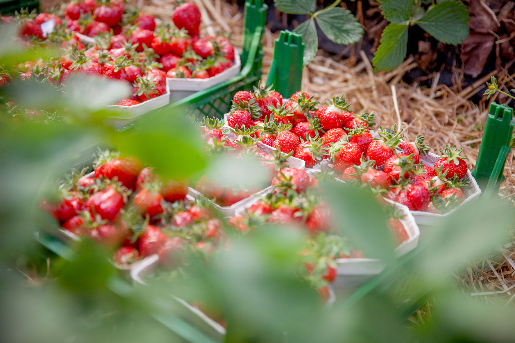
[[[95,178],[100,176],[105,179],[112,180],[117,178],[118,182],[122,182],[122,185],[134,190],[136,178],[143,169],[141,163],[131,157],[119,157],[119,153],[100,152],[98,159],[95,161]]]

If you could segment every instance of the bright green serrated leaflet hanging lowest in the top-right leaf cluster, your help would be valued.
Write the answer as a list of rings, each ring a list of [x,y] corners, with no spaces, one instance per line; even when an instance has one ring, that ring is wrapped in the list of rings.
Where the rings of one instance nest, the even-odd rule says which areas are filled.
[[[381,36],[381,45],[372,63],[380,70],[388,71],[404,61],[408,45],[408,25],[390,23]]]

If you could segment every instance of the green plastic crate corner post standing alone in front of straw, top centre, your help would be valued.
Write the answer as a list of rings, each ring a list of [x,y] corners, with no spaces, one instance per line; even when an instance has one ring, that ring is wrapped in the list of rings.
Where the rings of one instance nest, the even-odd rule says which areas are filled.
[[[273,84],[273,88],[284,98],[300,91],[303,56],[302,35],[288,30],[281,31],[273,46],[273,59],[266,79],[267,87]]]

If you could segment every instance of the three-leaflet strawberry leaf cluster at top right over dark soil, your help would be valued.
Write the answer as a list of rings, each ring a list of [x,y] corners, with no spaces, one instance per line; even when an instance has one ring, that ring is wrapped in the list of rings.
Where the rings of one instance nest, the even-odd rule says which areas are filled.
[[[378,70],[388,71],[400,65],[406,57],[408,28],[418,25],[445,44],[460,44],[469,35],[469,10],[461,2],[439,0],[424,9],[424,1],[381,0],[384,17],[390,22],[383,31],[381,45],[372,63]]]

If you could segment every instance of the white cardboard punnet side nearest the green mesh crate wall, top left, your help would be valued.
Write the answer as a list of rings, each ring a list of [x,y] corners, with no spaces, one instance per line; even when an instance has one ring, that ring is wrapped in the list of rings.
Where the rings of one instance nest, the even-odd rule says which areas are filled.
[[[239,74],[242,61],[239,59],[237,49],[234,49],[234,63],[225,71],[207,79],[186,79],[186,78],[166,78],[166,85],[170,89],[170,102],[180,100],[195,92],[208,89],[214,85],[227,81]]]

